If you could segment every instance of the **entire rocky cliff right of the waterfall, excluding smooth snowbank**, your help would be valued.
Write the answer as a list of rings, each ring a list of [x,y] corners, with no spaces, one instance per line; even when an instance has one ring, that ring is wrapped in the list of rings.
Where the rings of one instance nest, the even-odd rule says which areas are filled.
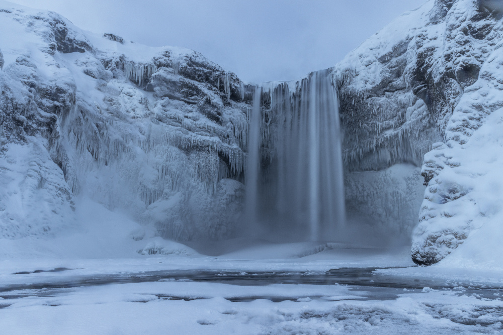
[[[483,182],[484,172],[469,164],[474,157],[465,149],[482,141],[473,135],[485,117],[501,107],[497,73],[502,10],[493,1],[430,1],[402,15],[334,68],[346,130],[348,205],[362,192],[376,198],[389,193],[389,186],[394,188],[381,182],[355,192],[355,183],[364,189],[355,182],[361,178],[358,171],[398,163],[422,166],[427,188],[417,207],[419,225],[412,245],[412,259],[418,264],[444,258],[487,215],[482,207],[491,195],[476,192],[474,186]],[[488,168],[484,165],[483,170]],[[412,170],[409,178],[417,182],[418,169]],[[372,173],[374,180],[381,178],[379,172]],[[382,206],[395,212],[411,208],[416,189],[405,186],[396,202]],[[370,207],[372,213],[375,208]],[[382,219],[377,215],[374,220]],[[409,230],[415,226],[411,223],[405,225]]]

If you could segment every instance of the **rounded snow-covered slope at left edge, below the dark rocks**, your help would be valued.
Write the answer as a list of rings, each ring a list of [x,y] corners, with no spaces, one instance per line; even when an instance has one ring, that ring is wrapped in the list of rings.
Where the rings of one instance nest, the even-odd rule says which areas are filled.
[[[0,158],[0,237],[54,237],[75,224],[71,191],[41,144],[8,144]]]

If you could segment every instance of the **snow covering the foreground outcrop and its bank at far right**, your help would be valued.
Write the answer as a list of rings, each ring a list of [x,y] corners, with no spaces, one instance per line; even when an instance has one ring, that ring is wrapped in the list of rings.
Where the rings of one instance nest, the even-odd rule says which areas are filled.
[[[451,15],[460,20],[474,15],[473,11],[471,3],[460,1]],[[500,23],[496,27],[494,34],[500,31]],[[478,62],[481,66],[479,75],[464,87],[447,121],[444,143],[425,156],[423,171],[431,180],[412,250],[423,249],[424,254],[438,261],[460,248],[455,253],[458,256],[446,259],[447,264],[501,268],[496,261],[500,248],[493,242],[500,231],[496,222],[501,212],[501,43],[475,42],[467,48],[474,58],[470,57],[470,64]],[[466,48],[463,50],[465,54]],[[466,57],[456,62],[466,63]]]

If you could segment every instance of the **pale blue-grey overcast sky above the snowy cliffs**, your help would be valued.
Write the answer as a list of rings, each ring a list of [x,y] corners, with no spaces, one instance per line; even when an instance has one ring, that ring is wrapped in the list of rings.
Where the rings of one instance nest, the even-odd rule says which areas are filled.
[[[291,80],[337,64],[426,0],[11,0],[78,27],[201,52],[245,81]]]

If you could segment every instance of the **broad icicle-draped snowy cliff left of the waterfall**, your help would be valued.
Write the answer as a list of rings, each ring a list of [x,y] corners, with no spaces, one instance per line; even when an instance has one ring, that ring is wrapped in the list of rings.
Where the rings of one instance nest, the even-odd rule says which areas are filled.
[[[163,237],[235,234],[251,95],[233,73],[50,12],[3,5],[0,27],[2,237],[71,227],[81,194]]]

